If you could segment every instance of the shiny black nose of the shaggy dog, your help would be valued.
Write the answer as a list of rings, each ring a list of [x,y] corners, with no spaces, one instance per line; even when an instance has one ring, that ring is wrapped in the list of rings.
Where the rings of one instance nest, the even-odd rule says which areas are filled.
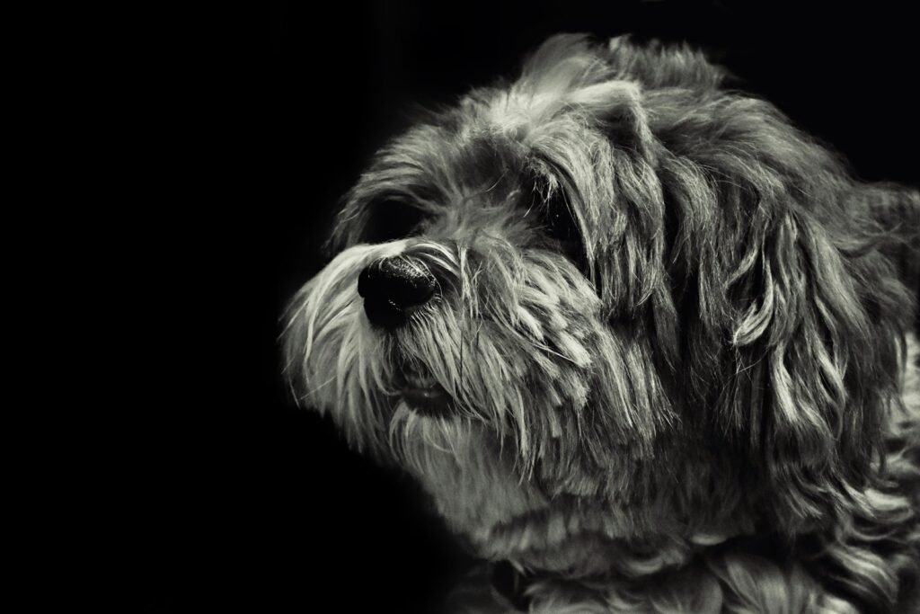
[[[403,324],[413,307],[427,303],[435,287],[425,267],[400,256],[371,262],[358,276],[367,319],[387,330]]]

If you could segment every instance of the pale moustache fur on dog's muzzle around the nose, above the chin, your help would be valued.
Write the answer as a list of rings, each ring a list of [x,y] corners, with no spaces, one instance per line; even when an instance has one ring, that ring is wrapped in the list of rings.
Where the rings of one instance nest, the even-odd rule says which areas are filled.
[[[413,260],[453,285],[454,297],[442,292],[399,330],[375,330],[355,292],[358,273],[407,245],[347,249],[295,297],[287,366],[305,380],[304,400],[340,413],[356,444],[380,447],[407,380],[431,377],[449,397],[449,419],[489,423],[501,440],[511,435],[519,458],[533,458],[534,414],[545,413],[558,436],[560,411],[577,418],[587,403],[603,340],[583,314],[599,311],[596,295],[558,258],[524,259],[511,245],[483,258],[416,242]]]

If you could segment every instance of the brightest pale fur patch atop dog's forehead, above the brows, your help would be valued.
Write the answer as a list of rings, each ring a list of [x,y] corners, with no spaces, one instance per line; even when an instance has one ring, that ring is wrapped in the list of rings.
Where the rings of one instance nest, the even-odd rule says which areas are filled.
[[[477,87],[448,110],[397,137],[378,168],[426,173],[438,185],[481,190],[541,164],[552,149],[576,149],[612,109],[629,106],[638,86],[619,78],[581,41],[547,45],[512,83]],[[561,145],[565,144],[565,145]]]

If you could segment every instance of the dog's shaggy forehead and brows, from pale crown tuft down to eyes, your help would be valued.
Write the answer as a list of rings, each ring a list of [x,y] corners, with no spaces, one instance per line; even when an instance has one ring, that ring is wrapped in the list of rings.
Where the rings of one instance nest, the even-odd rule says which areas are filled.
[[[334,244],[360,238],[367,215],[392,202],[483,220],[484,209],[526,214],[552,195],[582,233],[610,226],[612,122],[626,126],[627,147],[646,136],[634,134],[638,85],[623,76],[581,43],[541,49],[513,83],[473,89],[381,150],[349,193]]]

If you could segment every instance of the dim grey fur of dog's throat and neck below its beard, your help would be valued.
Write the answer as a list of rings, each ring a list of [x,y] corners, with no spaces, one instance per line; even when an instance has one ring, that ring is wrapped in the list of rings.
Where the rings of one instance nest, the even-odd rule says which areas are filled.
[[[488,440],[471,425],[469,441],[476,445],[454,441],[449,451],[425,448],[416,471],[448,525],[486,559],[566,577],[637,576],[679,566],[696,550],[753,532],[738,500],[714,501],[708,492],[684,495],[714,501],[705,514],[674,501],[673,482],[681,477],[673,468],[696,472],[694,483],[704,483],[699,472],[716,465],[707,455],[688,457],[682,450],[659,458],[657,464],[667,468],[661,480],[668,483],[661,482],[657,494],[582,498],[547,495],[535,481],[522,480],[510,450],[483,445]]]

